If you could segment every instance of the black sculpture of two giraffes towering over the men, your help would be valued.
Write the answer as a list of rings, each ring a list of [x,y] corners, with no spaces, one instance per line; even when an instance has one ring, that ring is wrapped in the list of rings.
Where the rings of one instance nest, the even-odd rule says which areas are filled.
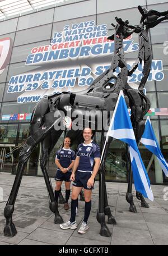
[[[63,132],[63,129],[58,130],[54,129],[54,127],[59,126],[60,117],[63,118],[63,116],[67,116],[69,109],[72,115],[74,113],[79,115],[82,114],[84,118],[86,111],[91,111],[91,115],[95,115],[97,110],[100,112],[113,111],[118,99],[119,92],[120,90],[123,90],[127,106],[129,106],[132,110],[131,120],[137,143],[141,139],[144,130],[143,116],[150,108],[150,101],[143,94],[143,87],[150,73],[152,60],[150,43],[148,40],[148,30],[156,26],[162,20],[166,20],[168,12],[160,13],[153,10],[147,11],[146,9],[142,9],[140,6],[138,9],[142,15],[139,26],[132,26],[128,24],[128,21],[115,18],[117,22],[117,25],[115,26],[115,34],[109,37],[111,40],[114,39],[115,45],[114,55],[110,68],[99,77],[97,77],[97,79],[94,80],[92,85],[87,90],[80,92],[80,94],[63,92],[51,96],[49,95],[48,97],[41,99],[40,102],[36,105],[30,121],[30,136],[27,138],[26,143],[20,152],[15,181],[13,183],[6,207],[4,208],[4,217],[6,217],[6,226],[4,227],[5,236],[15,236],[17,233],[16,227],[12,221],[14,204],[26,163],[30,158],[30,154],[38,143],[41,143],[42,146],[40,164],[46,187],[49,192],[50,210],[55,214],[54,222],[63,223],[63,219],[59,214],[58,204],[55,202],[53,189],[49,181],[48,172],[46,170],[46,163],[50,152],[52,151],[54,145],[57,143],[60,135]],[[131,70],[128,70],[123,52],[123,39],[127,38],[133,33],[139,34],[139,60],[134,63]],[[128,76],[132,75],[134,70],[136,70],[139,61],[144,62],[143,77],[141,83],[139,84],[138,90],[134,90],[127,83],[127,78]],[[118,76],[114,76],[113,74],[116,67],[120,67]],[[113,82],[111,82],[111,79],[113,79]],[[54,115],[55,113],[57,113],[56,117]],[[60,116],[58,113],[60,113]],[[72,118],[72,127],[73,122],[75,122],[75,120]],[[96,130],[97,129],[95,128],[95,131]],[[72,140],[76,139],[78,142],[80,142],[82,138],[81,134],[81,130],[72,130],[67,132],[67,135],[71,136]],[[101,144],[103,144],[103,136],[104,130],[102,130]],[[108,141],[108,144],[109,142],[110,141]],[[107,150],[108,147],[106,147],[104,155],[102,156],[102,164],[100,166],[99,172],[99,209],[97,211],[97,221],[101,225],[100,235],[102,236],[111,235],[105,223],[105,215],[108,215],[108,223],[116,223],[113,215],[111,214],[106,194],[105,159]],[[146,202],[140,193],[137,193],[137,197],[138,199],[141,199],[142,204],[146,206]],[[130,203],[130,211],[135,212],[136,208],[134,207],[132,196],[131,170],[129,170],[127,201]]]

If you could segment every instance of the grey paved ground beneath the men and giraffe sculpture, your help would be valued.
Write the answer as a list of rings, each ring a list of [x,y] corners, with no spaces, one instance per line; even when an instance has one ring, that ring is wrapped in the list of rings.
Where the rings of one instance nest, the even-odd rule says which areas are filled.
[[[48,194],[43,177],[24,176],[13,213],[13,222],[17,228],[15,237],[4,237],[3,209],[10,194],[14,175],[0,173],[0,191],[3,189],[3,201],[0,200],[0,245],[3,244],[67,244],[67,245],[113,245],[113,244],[168,244],[168,201],[164,200],[165,186],[152,185],[154,202],[147,202],[150,209],[142,208],[134,197],[137,213],[129,212],[125,200],[127,184],[107,182],[108,200],[117,225],[108,225],[111,237],[99,235],[100,225],[96,221],[98,203],[98,183],[95,184],[92,210],[89,218],[89,230],[80,235],[77,230],[61,230],[54,224],[54,214],[49,210]],[[54,188],[54,179],[52,179]],[[168,188],[167,188],[168,191]],[[63,187],[64,192],[64,187]],[[134,190],[133,190],[133,194]],[[168,196],[167,196],[168,199]],[[83,218],[84,202],[79,203],[77,223]],[[66,221],[70,210],[65,211],[59,205],[59,212]]]

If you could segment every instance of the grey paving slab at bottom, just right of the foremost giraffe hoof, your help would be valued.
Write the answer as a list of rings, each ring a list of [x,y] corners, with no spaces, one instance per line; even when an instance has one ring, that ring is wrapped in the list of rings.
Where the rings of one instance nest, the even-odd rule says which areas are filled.
[[[150,232],[114,226],[112,245],[152,245]]]

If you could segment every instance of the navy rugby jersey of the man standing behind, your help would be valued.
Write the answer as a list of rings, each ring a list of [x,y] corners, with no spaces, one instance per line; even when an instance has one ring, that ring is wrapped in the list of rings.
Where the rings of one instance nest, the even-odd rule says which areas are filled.
[[[55,159],[59,160],[60,165],[63,168],[67,168],[69,166],[69,164],[72,163],[72,160],[75,160],[76,156],[75,156],[75,152],[69,148],[69,149],[59,149],[57,151],[56,157]],[[60,169],[58,168],[58,170],[60,171]],[[72,171],[72,169],[70,169],[69,171]]]

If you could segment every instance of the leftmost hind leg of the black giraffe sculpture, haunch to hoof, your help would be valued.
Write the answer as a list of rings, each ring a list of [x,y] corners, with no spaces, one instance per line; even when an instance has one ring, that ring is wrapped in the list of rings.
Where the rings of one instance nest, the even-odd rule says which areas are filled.
[[[38,106],[36,106],[36,109],[33,114],[33,118],[31,120],[30,136],[29,138],[27,138],[26,143],[24,144],[24,147],[20,152],[15,181],[13,183],[12,190],[11,190],[9,199],[7,201],[6,207],[4,208],[4,217],[6,218],[6,225],[4,227],[4,236],[15,236],[17,234],[15,225],[12,222],[12,214],[14,211],[15,201],[16,201],[18,189],[21,184],[21,179],[24,173],[26,163],[30,158],[30,155],[34,150],[34,148],[36,147],[36,145],[40,141],[44,140],[46,135],[48,135],[53,130],[54,123],[56,124],[57,122],[59,122],[59,118],[54,118],[54,113],[49,112],[45,116],[45,121],[43,122],[43,125],[41,125],[43,118],[40,115],[41,112],[39,112],[39,109],[41,112],[47,111],[48,99],[42,100],[41,102],[39,102]]]

